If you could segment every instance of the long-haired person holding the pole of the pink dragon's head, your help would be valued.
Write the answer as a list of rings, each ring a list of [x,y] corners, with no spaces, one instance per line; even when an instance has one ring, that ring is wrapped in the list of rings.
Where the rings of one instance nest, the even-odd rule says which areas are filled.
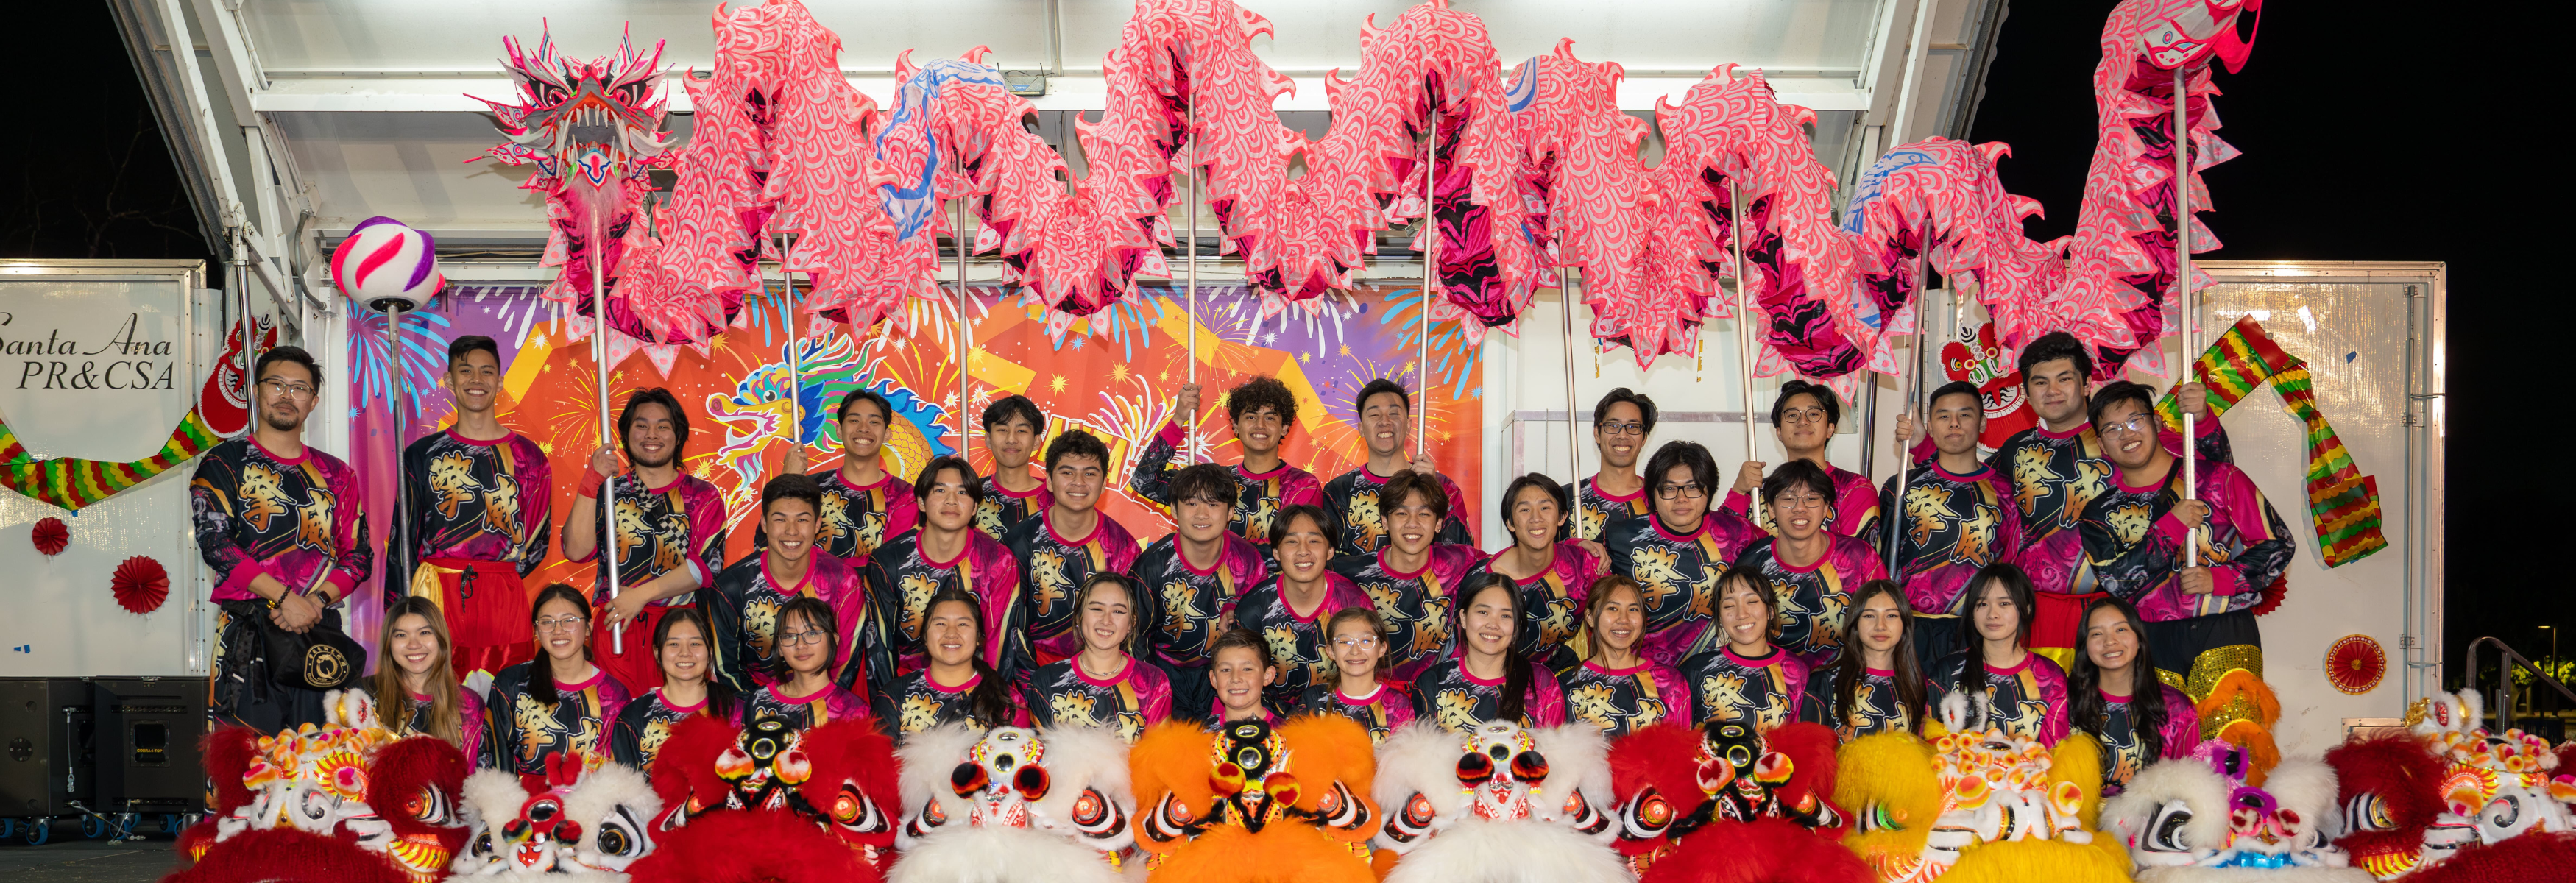
[[[626,451],[629,471],[618,471],[618,451]],[[600,610],[590,623],[592,664],[605,669],[626,695],[662,685],[662,669],[652,656],[652,626],[670,608],[685,608],[698,587],[714,584],[724,569],[724,492],[706,479],[680,471],[688,451],[688,412],[670,389],[654,386],[626,396],[618,412],[618,448],[600,445],[590,453],[590,471],[564,517],[564,561],[600,559],[600,538],[616,543],[618,595],[608,597],[608,574],[600,574],[590,605]],[[616,474],[616,528],[600,507],[600,487]],[[623,623],[623,638],[613,626]]]

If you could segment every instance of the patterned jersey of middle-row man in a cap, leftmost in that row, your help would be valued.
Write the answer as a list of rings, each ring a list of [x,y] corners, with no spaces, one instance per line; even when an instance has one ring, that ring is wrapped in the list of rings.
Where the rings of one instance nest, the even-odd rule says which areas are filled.
[[[770,572],[770,553],[752,551],[716,574],[698,605],[716,628],[716,674],[737,692],[778,682],[778,608],[796,597],[817,597],[832,608],[832,682],[858,690],[891,674],[894,649],[886,636],[886,610],[868,592],[863,574],[871,561],[850,566],[835,556],[809,553],[804,579],[786,584]]]

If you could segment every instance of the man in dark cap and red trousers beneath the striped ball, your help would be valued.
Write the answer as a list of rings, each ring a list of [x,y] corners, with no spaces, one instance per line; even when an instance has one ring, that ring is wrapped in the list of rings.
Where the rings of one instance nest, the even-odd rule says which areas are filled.
[[[384,572],[446,613],[456,677],[536,656],[520,579],[546,561],[554,466],[533,438],[500,425],[502,373],[500,342],[456,337],[446,373],[456,425],[402,448],[407,548]]]

